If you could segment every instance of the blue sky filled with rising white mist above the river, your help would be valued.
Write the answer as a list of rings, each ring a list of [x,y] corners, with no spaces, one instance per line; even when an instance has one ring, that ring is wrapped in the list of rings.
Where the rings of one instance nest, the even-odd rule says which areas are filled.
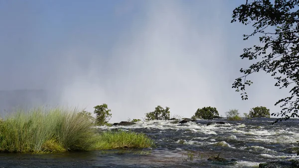
[[[252,28],[230,23],[241,0],[0,0],[0,90],[46,89],[48,103],[92,111],[107,103],[112,122],[161,105],[191,117],[255,106],[272,112],[286,91],[254,74],[242,101],[231,88],[249,65],[239,55]]]

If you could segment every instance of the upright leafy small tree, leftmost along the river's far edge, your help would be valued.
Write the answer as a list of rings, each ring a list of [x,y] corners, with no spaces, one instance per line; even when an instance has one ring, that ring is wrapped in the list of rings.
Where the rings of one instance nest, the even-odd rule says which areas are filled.
[[[104,125],[108,123],[110,120],[112,114],[110,113],[111,110],[108,109],[107,104],[102,104],[94,107],[95,111],[94,113],[97,115],[97,124],[98,125]]]

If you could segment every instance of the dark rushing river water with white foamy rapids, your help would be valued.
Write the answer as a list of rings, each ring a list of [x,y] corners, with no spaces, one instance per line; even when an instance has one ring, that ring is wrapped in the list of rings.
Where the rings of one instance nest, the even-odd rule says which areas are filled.
[[[272,125],[274,120],[198,120],[182,125],[149,121],[133,126],[103,126],[98,129],[121,128],[145,133],[154,140],[156,148],[130,152],[0,154],[0,168],[250,168],[267,161],[297,158],[299,120]],[[219,121],[226,124],[207,126],[209,122]],[[236,161],[219,165],[207,160],[218,154]]]

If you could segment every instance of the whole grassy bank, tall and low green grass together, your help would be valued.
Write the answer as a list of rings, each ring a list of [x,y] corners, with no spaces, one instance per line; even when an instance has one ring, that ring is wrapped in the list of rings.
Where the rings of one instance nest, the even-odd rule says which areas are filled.
[[[132,131],[99,132],[77,110],[37,108],[19,110],[0,120],[0,152],[59,153],[149,148],[152,141]]]

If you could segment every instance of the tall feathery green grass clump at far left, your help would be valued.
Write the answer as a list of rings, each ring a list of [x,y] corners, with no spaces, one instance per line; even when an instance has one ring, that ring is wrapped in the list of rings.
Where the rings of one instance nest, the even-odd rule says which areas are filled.
[[[0,121],[0,152],[51,153],[90,149],[93,122],[76,110],[37,108]]]

